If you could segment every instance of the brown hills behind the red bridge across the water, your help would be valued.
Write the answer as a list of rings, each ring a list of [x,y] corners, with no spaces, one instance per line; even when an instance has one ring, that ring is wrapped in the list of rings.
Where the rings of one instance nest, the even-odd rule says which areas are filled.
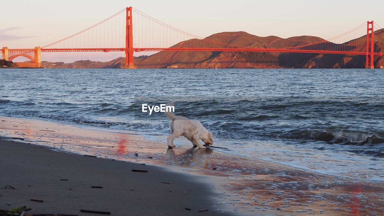
[[[382,37],[378,31],[376,38]],[[259,37],[247,32],[222,32],[207,37],[209,40],[230,45],[254,48],[285,48],[321,42],[324,39],[313,36],[280,38]],[[383,38],[381,38],[383,39]],[[364,37],[344,43],[355,43]],[[173,47],[190,47],[190,44],[203,44],[203,40],[191,39],[177,43]],[[227,45],[220,45],[225,48]],[[379,49],[379,42],[375,43]],[[364,50],[365,48],[360,48]],[[361,51],[361,50],[358,50]],[[125,58],[108,62],[75,61],[74,63],[43,62],[46,68],[122,68]],[[262,52],[158,52],[151,56],[134,58],[137,68],[364,68],[365,56],[313,54],[313,53],[262,53]],[[381,56],[375,57],[375,66],[384,65]]]

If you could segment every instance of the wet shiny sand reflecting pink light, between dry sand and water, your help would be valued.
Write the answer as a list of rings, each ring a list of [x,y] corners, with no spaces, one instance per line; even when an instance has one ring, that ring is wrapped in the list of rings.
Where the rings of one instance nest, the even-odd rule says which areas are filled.
[[[139,168],[149,167],[139,165],[140,163],[154,164],[157,165],[154,170],[165,168],[188,174],[187,179],[203,179],[204,183],[207,183],[205,187],[212,189],[214,193],[202,195],[205,197],[205,201],[200,197],[201,201],[207,204],[207,208],[226,213],[238,215],[384,215],[384,205],[382,204],[384,184],[378,181],[328,176],[260,159],[223,153],[214,149],[190,148],[187,141],[186,145],[167,149],[165,143],[146,140],[137,132],[132,131],[109,129],[99,131],[92,127],[80,128],[75,125],[9,117],[0,117],[0,120],[0,135],[13,138],[14,141],[107,158],[107,160],[100,160],[71,155],[71,157],[86,160],[97,159],[102,161],[101,164],[104,161],[125,164],[118,160],[135,162],[135,166],[139,166]],[[183,143],[184,141],[185,139],[179,138],[177,142]],[[39,146],[33,147],[39,148]],[[115,159],[115,161],[111,159]],[[15,163],[20,166],[20,162]],[[93,168],[98,169],[96,166]],[[131,176],[132,174],[149,173],[131,173]],[[84,178],[84,176],[78,178]],[[171,179],[182,182],[180,179],[183,178]],[[156,181],[168,180],[157,179]],[[181,182],[180,184],[182,184]],[[120,184],[123,185],[123,183]],[[119,183],[116,183],[116,186],[118,185]],[[169,184],[165,186],[169,186]],[[0,190],[1,193],[3,193],[2,190]],[[119,198],[119,196],[114,197],[114,199]],[[146,202],[148,204],[148,201]],[[0,205],[0,208],[3,206]],[[180,208],[184,209],[183,206]],[[99,210],[102,211],[102,209]],[[209,211],[211,215],[213,211]],[[184,212],[182,213],[184,214]],[[203,212],[195,213],[202,214]]]

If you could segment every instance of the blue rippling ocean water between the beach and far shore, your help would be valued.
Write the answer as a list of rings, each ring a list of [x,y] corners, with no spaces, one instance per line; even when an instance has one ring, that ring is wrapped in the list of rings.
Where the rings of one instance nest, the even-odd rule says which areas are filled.
[[[140,131],[169,119],[141,104],[175,102],[228,154],[384,181],[384,70],[2,69],[0,115]]]

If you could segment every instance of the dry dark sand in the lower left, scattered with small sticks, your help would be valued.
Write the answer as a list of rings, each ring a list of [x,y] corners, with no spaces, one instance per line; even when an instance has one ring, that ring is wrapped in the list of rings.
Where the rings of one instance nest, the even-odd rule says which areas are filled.
[[[111,215],[219,214],[212,209],[212,190],[207,184],[160,167],[2,140],[0,164],[0,188],[15,188],[0,189],[0,209],[26,205],[34,214],[100,215],[81,213],[81,209]]]

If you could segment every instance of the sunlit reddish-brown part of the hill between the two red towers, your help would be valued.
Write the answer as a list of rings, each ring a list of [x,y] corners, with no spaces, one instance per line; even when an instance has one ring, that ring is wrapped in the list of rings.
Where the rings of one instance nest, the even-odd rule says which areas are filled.
[[[286,39],[276,36],[258,37],[247,32],[222,32],[210,35],[207,39],[235,46],[257,48],[294,47],[323,40],[311,36]],[[189,45],[193,43],[208,43],[202,40],[196,42],[196,40],[198,39],[180,42],[174,47],[190,47]],[[224,47],[229,46],[216,45],[215,48]],[[279,53],[240,52],[159,52],[136,61],[135,64],[138,68],[281,68],[284,66],[280,64],[279,55]]]

